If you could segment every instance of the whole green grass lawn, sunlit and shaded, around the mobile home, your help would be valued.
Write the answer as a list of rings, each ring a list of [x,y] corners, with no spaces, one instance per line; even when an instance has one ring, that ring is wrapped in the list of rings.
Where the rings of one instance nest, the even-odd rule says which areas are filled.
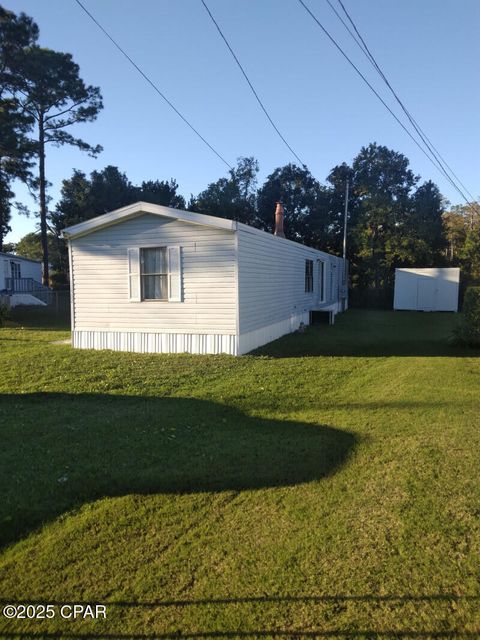
[[[0,329],[1,638],[479,638],[480,366],[451,314],[257,353]]]

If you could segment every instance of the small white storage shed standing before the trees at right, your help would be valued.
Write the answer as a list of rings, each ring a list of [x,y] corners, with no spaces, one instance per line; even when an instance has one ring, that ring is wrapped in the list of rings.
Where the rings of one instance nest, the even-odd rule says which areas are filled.
[[[458,311],[460,269],[395,269],[393,308]]]

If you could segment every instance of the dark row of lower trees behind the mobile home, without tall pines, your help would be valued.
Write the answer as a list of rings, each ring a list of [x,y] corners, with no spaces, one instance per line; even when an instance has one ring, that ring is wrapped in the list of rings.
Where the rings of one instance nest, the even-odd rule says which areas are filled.
[[[254,158],[240,158],[227,176],[186,203],[173,178],[135,185],[114,166],[90,176],[74,170],[63,181],[49,218],[57,277],[67,277],[66,247],[60,237],[66,226],[139,200],[238,220],[268,232],[273,231],[275,203],[281,201],[287,238],[341,255],[347,180],[347,258],[354,289],[369,291],[374,301],[385,300],[395,267],[455,264],[471,278],[480,276],[480,221],[475,209],[445,211],[438,187],[431,181],[419,184],[401,153],[372,143],[350,165],[334,167],[325,184],[307,168],[288,164],[259,185],[258,171]],[[35,234],[24,240],[17,251],[34,257]],[[38,237],[36,242],[35,257],[41,250]]]

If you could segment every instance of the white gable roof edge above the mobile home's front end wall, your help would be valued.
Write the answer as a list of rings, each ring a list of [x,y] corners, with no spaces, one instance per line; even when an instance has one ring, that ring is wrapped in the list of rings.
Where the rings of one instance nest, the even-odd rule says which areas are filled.
[[[172,220],[181,220],[182,222],[191,222],[192,224],[200,224],[206,227],[215,227],[217,229],[225,229],[228,231],[236,231],[237,223],[233,220],[225,218],[216,218],[215,216],[206,216],[203,213],[193,213],[192,211],[182,211],[181,209],[172,209],[172,207],[163,207],[159,204],[150,204],[148,202],[135,202],[121,209],[115,209],[109,213],[104,213],[96,218],[85,220],[63,230],[65,238],[77,238],[92,231],[97,231],[105,227],[110,227],[122,220],[134,218],[144,213],[161,216],[162,218],[170,218]]]

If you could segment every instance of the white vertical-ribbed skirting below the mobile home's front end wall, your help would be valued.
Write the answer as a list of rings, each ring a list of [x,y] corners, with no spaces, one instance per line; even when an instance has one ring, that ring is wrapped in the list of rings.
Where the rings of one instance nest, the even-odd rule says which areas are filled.
[[[237,336],[140,331],[73,331],[76,349],[111,349],[136,353],[228,353],[237,355]]]

